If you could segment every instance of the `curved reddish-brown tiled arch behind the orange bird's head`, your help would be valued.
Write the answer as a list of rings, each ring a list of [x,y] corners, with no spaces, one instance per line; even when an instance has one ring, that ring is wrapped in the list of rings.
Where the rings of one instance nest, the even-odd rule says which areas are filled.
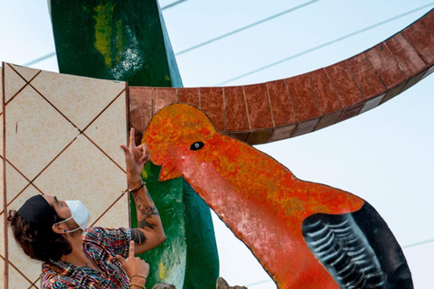
[[[434,9],[352,58],[288,79],[213,88],[129,88],[129,122],[145,131],[174,102],[201,108],[223,134],[265,144],[334,125],[381,105],[427,77]]]

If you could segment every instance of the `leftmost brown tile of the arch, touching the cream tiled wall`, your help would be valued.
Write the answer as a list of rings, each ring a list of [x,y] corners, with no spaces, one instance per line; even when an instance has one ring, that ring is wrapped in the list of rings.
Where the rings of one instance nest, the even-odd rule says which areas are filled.
[[[144,132],[152,117],[152,88],[129,87],[129,126]]]

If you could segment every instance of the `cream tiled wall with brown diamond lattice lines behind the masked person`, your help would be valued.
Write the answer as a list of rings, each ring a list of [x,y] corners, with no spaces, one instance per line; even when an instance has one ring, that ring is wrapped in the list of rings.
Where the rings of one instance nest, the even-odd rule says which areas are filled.
[[[41,264],[24,255],[9,228],[4,236],[5,209],[17,210],[35,194],[52,194],[83,201],[91,212],[90,225],[129,226],[127,195],[122,193],[125,163],[118,146],[127,141],[126,83],[9,63],[0,70],[0,79],[0,91],[5,91],[0,125],[6,127],[5,135],[0,133],[5,141],[5,152],[0,151],[5,189],[0,198],[0,270],[8,265],[0,287],[7,278],[8,289],[40,288]]]

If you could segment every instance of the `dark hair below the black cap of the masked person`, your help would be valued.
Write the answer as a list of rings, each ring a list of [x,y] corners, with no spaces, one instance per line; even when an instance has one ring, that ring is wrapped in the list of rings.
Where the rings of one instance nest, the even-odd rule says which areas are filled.
[[[54,210],[54,208],[52,208]],[[55,210],[54,210],[55,211]],[[54,222],[63,220],[57,213]],[[16,242],[27,256],[39,261],[58,261],[61,256],[72,252],[70,242],[52,229],[40,231],[30,228],[29,224],[16,210],[9,210],[7,221],[14,232]]]

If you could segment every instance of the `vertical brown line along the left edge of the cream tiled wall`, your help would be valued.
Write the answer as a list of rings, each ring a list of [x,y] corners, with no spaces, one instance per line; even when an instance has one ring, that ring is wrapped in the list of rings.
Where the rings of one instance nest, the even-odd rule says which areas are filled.
[[[3,210],[5,215],[4,220],[4,239],[5,239],[5,289],[9,288],[9,252],[7,239],[7,199],[6,199],[6,111],[5,111],[5,62],[2,62],[2,108],[3,108]]]

